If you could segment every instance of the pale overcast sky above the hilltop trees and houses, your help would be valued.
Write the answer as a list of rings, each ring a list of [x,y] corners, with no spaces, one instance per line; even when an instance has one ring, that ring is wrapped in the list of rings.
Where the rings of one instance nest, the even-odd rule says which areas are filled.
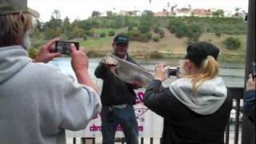
[[[60,10],[62,19],[68,16],[72,21],[75,18],[86,19],[93,10],[105,12],[112,10],[152,10],[162,11],[167,7],[177,4],[179,8],[216,8],[234,11],[238,7],[248,10],[248,0],[28,0],[28,5],[40,13],[42,21],[48,21],[54,10]]]

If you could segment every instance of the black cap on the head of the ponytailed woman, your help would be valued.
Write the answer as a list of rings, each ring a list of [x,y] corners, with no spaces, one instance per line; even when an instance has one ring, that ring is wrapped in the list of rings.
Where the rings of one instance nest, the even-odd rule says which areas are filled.
[[[219,49],[217,46],[209,42],[197,42],[186,47],[186,59],[194,62],[198,67],[202,65],[202,62],[207,56],[212,56],[217,61]]]

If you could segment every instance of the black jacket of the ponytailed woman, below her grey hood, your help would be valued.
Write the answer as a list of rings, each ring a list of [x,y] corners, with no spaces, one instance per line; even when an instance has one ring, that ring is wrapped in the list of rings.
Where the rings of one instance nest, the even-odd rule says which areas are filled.
[[[196,114],[170,92],[162,82],[148,86],[144,104],[164,118],[162,144],[224,144],[224,130],[230,116],[229,94],[222,106],[210,115]]]

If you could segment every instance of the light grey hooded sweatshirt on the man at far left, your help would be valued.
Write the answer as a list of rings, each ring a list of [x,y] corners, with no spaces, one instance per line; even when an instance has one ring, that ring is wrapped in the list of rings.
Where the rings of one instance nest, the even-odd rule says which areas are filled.
[[[43,63],[21,46],[0,47],[0,143],[65,144],[101,110],[98,94]]]

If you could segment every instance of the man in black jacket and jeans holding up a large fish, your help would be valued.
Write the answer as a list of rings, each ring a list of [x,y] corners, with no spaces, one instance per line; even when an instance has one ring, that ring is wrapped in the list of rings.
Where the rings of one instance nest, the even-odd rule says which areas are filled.
[[[127,53],[129,39],[126,35],[118,34],[114,38],[112,47],[114,56],[122,61],[137,63]],[[118,124],[126,137],[127,144],[138,144],[138,122],[134,113],[133,104],[136,100],[134,89],[141,87],[139,82],[129,84],[118,78],[118,61],[113,58],[103,58],[94,74],[103,80],[102,86],[102,144],[114,144],[114,135]]]

